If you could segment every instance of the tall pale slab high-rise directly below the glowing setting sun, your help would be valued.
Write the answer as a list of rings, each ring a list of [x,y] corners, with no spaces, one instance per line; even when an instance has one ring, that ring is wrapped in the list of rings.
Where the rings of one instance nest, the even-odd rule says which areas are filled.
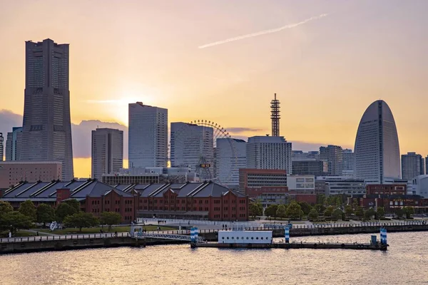
[[[168,162],[168,110],[129,104],[129,167],[166,167]]]

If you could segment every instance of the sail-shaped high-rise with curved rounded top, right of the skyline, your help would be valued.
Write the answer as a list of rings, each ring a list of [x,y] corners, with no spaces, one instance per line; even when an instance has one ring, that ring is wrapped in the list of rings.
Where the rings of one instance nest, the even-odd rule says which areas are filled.
[[[354,152],[357,179],[384,184],[400,178],[397,127],[383,100],[374,101],[362,115]]]

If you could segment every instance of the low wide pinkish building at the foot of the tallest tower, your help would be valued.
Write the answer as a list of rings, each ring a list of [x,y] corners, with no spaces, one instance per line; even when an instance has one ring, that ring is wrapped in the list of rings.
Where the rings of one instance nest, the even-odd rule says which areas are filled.
[[[5,161],[0,162],[0,189],[7,189],[22,181],[61,180],[62,162]]]

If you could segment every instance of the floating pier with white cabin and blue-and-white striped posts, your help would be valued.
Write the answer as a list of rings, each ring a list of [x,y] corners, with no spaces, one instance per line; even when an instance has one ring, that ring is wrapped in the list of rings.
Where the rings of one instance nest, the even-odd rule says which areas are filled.
[[[201,242],[198,239],[198,228],[190,230],[190,247],[216,247],[223,249],[245,248],[245,249],[370,249],[386,251],[387,229],[380,229],[380,241],[372,235],[370,243],[325,243],[325,242],[292,242],[290,243],[290,229],[284,229],[284,241],[274,242],[272,231],[245,231],[233,229],[232,231],[219,231],[218,242]]]

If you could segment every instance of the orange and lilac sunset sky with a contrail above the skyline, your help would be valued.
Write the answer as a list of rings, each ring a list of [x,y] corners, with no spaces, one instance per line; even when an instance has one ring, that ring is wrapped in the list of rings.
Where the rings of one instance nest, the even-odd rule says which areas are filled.
[[[248,137],[270,133],[277,93],[280,134],[317,150],[353,148],[382,99],[401,152],[427,155],[426,11],[424,0],[0,0],[0,127],[23,113],[24,42],[51,38],[70,44],[76,177],[91,172],[81,150],[94,122],[126,128],[137,100]]]

